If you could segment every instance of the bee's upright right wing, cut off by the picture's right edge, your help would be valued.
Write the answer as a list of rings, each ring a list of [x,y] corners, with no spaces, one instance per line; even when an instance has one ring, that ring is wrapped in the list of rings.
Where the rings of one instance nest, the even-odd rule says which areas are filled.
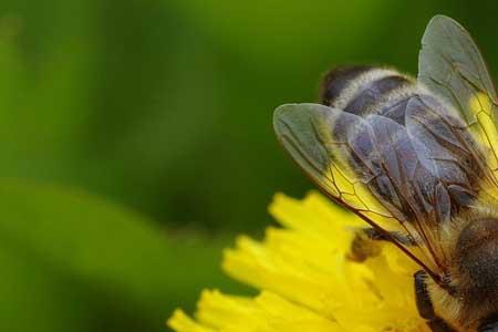
[[[418,58],[418,82],[446,102],[450,116],[456,117],[479,144],[481,152],[471,148],[474,158],[480,164],[487,183],[496,189],[498,96],[479,49],[470,34],[453,19],[436,15],[428,23]],[[446,114],[442,116],[449,118]],[[460,126],[452,122],[449,127]],[[467,137],[459,138],[468,141]]]

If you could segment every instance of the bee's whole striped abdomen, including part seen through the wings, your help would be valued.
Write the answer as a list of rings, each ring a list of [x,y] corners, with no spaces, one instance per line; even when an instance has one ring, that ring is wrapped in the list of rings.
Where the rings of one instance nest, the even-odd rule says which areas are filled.
[[[372,133],[361,128],[349,132],[347,142],[355,145],[362,153],[362,157],[359,157],[357,151],[351,149],[352,168],[361,173],[364,178],[375,179],[369,183],[369,187],[378,199],[394,204],[405,216],[414,216],[417,211],[424,210],[430,214],[432,208],[436,207],[440,209],[437,212],[437,220],[449,218],[449,215],[454,215],[460,207],[469,205],[474,199],[477,190],[474,184],[479,178],[478,165],[470,157],[466,158],[463,151],[456,148],[449,141],[437,141],[447,135],[448,132],[442,129],[447,124],[442,122],[442,117],[433,116],[433,112],[437,112],[434,110],[438,107],[447,106],[427,90],[417,85],[414,79],[388,69],[341,68],[325,76],[321,98],[324,105],[361,116],[367,124],[374,122],[372,116],[370,120],[367,118],[369,115],[380,115],[403,126],[396,128],[390,125],[386,128],[391,128],[391,132],[385,132],[380,129],[380,126],[371,125]],[[411,124],[407,122],[407,114],[411,114]],[[414,124],[414,115],[424,117],[429,127],[436,132],[422,132],[425,131],[425,127]],[[406,126],[412,129],[411,134]],[[438,136],[438,129],[443,131],[440,136]],[[332,128],[332,133],[335,131],[343,133],[347,128]],[[414,131],[418,132],[414,133]],[[434,136],[430,136],[432,138],[428,136],[430,139],[417,141],[421,137],[416,136],[423,133]],[[370,137],[369,135],[376,137],[392,135],[384,141],[391,144],[390,149],[393,154],[385,152],[384,159],[380,159],[378,156],[382,155],[384,147],[372,145],[371,139],[365,138]],[[411,135],[415,135],[415,137]],[[467,139],[474,146],[471,137]],[[416,142],[418,145],[415,144]],[[423,142],[430,142],[433,145],[425,148]],[[433,156],[427,154],[430,148],[438,153],[437,144],[440,144],[445,151],[443,158],[448,160],[439,160],[437,169],[433,167],[429,170],[426,166],[430,166]],[[467,162],[465,162],[466,159]],[[375,173],[371,174],[372,167],[369,163],[372,165],[383,164],[386,172],[388,170],[387,177],[378,177]],[[460,167],[461,164],[465,164],[465,167]],[[400,174],[404,174],[403,178],[392,181]],[[415,201],[419,203],[419,206],[400,200],[403,197],[402,187],[409,187],[409,195],[417,197]]]

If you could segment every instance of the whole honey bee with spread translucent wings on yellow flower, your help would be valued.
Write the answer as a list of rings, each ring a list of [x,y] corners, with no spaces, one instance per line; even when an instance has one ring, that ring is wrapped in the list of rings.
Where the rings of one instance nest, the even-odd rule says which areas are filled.
[[[346,66],[321,104],[278,107],[280,143],[332,200],[370,227],[351,259],[387,240],[421,270],[418,312],[434,332],[498,332],[498,97],[470,34],[434,17],[416,79]]]

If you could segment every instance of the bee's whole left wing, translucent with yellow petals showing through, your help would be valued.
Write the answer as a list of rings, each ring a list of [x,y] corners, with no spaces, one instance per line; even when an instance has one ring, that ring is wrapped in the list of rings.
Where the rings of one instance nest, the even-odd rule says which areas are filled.
[[[417,241],[419,246],[406,247],[391,237],[437,280],[440,270],[426,246],[430,234],[416,221],[432,212],[421,198],[425,184],[417,181],[424,168],[403,126],[319,104],[282,105],[273,126],[283,147],[324,194],[387,237],[395,230]]]

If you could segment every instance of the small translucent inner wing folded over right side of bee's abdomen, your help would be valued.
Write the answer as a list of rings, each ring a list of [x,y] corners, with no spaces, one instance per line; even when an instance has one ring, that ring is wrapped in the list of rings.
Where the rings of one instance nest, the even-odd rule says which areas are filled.
[[[405,125],[424,168],[448,190],[453,215],[470,206],[489,169],[467,125],[438,100],[423,94],[408,101]]]

